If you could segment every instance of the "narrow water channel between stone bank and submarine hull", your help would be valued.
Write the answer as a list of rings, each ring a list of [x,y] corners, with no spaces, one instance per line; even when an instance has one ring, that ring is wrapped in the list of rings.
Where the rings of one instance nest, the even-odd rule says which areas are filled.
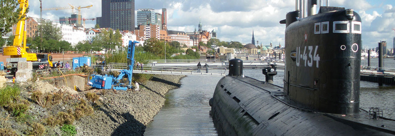
[[[209,100],[221,77],[187,76],[181,88],[166,94],[165,106],[149,123],[145,136],[216,136]]]

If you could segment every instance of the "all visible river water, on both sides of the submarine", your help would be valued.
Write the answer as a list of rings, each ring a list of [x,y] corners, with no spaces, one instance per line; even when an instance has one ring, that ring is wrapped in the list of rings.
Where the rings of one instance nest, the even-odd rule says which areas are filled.
[[[364,60],[362,60],[362,65]],[[367,63],[367,61],[366,61]],[[371,66],[378,65],[372,58]],[[384,59],[384,67],[395,67],[395,60]],[[259,69],[245,69],[246,76],[265,80]],[[217,135],[210,116],[209,99],[213,97],[215,86],[221,77],[187,76],[181,80],[181,88],[166,94],[165,106],[149,123],[145,136],[213,136]],[[283,86],[284,70],[278,70],[274,83]],[[360,107],[381,108],[384,117],[395,119],[395,86],[379,87],[378,83],[361,81]]]

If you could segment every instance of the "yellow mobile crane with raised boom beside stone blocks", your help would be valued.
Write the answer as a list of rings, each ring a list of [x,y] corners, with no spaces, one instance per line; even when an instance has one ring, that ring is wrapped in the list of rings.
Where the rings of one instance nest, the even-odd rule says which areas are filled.
[[[25,15],[25,11],[29,6],[28,0],[18,0],[19,8],[21,8],[20,15]],[[53,67],[51,54],[35,54],[30,53],[29,47],[26,47],[26,31],[25,18],[18,21],[15,38],[12,46],[3,48],[4,56],[11,56],[7,58],[7,69],[12,75],[17,71],[17,65],[20,61],[33,61],[33,69],[43,69],[47,64]]]

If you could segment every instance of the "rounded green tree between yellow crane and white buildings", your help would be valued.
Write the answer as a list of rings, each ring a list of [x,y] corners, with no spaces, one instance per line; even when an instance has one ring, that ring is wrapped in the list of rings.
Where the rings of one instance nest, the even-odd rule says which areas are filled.
[[[55,24],[52,24],[51,22],[43,22],[40,25],[37,26],[38,28],[42,27],[42,31],[43,31],[43,39],[46,40],[56,40],[56,41],[60,41],[60,39],[62,39],[62,32],[60,31],[60,28],[57,27]],[[40,38],[40,31],[37,31],[35,34],[35,38]]]

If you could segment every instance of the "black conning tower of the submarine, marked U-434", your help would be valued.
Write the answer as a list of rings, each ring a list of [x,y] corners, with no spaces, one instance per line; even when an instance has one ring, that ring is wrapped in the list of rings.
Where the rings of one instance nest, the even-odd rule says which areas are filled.
[[[280,21],[286,24],[284,96],[320,112],[358,113],[361,18],[344,7],[299,15]]]

